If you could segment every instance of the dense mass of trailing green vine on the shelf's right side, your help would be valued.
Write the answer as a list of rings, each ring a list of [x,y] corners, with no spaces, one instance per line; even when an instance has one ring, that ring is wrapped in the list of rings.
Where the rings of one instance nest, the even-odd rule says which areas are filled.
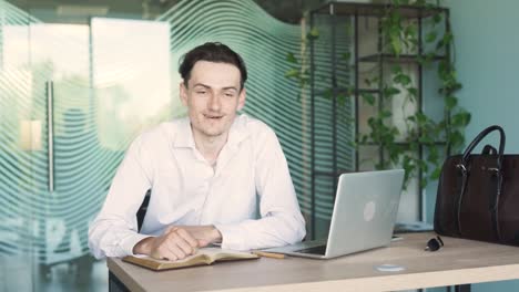
[[[419,44],[418,23],[408,20],[400,14],[400,6],[411,4],[409,0],[393,0],[385,9],[380,28],[383,32],[384,50],[394,55],[398,61],[403,52],[417,51]],[[370,133],[366,134],[360,143],[370,139],[381,146],[387,153],[377,168],[387,168],[391,165],[401,165],[406,170],[406,181],[415,177],[419,171],[421,177],[420,187],[425,187],[430,179],[437,179],[441,170],[441,161],[450,152],[458,152],[465,143],[464,131],[470,122],[470,114],[458,106],[455,93],[461,88],[456,76],[455,65],[450,58],[450,45],[454,38],[450,32],[448,19],[447,25],[441,33],[439,24],[447,17],[437,10],[437,6],[426,1],[415,1],[413,6],[423,8],[424,11],[432,12],[430,30],[425,35],[425,45],[428,52],[418,54],[418,62],[423,66],[434,65],[434,60],[444,55],[437,63],[437,72],[440,81],[438,93],[444,98],[444,117],[435,121],[426,115],[420,108],[414,114],[405,116],[407,135],[401,144],[396,143],[399,135],[398,128],[391,123],[391,113],[383,109],[369,121]],[[419,52],[417,52],[419,53]],[[405,95],[405,103],[417,103],[418,88],[413,85],[411,76],[398,64],[391,65],[391,76],[384,85],[381,103],[390,102],[396,95]],[[383,106],[384,108],[384,106]],[[439,145],[445,145],[444,154],[438,150]],[[416,153],[425,149],[424,156]]]

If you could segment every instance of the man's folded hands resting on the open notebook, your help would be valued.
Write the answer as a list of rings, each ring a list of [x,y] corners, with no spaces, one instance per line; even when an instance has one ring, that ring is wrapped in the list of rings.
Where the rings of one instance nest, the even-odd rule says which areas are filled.
[[[214,226],[170,226],[162,236],[145,238],[136,243],[133,253],[174,261],[221,240],[222,234]]]

